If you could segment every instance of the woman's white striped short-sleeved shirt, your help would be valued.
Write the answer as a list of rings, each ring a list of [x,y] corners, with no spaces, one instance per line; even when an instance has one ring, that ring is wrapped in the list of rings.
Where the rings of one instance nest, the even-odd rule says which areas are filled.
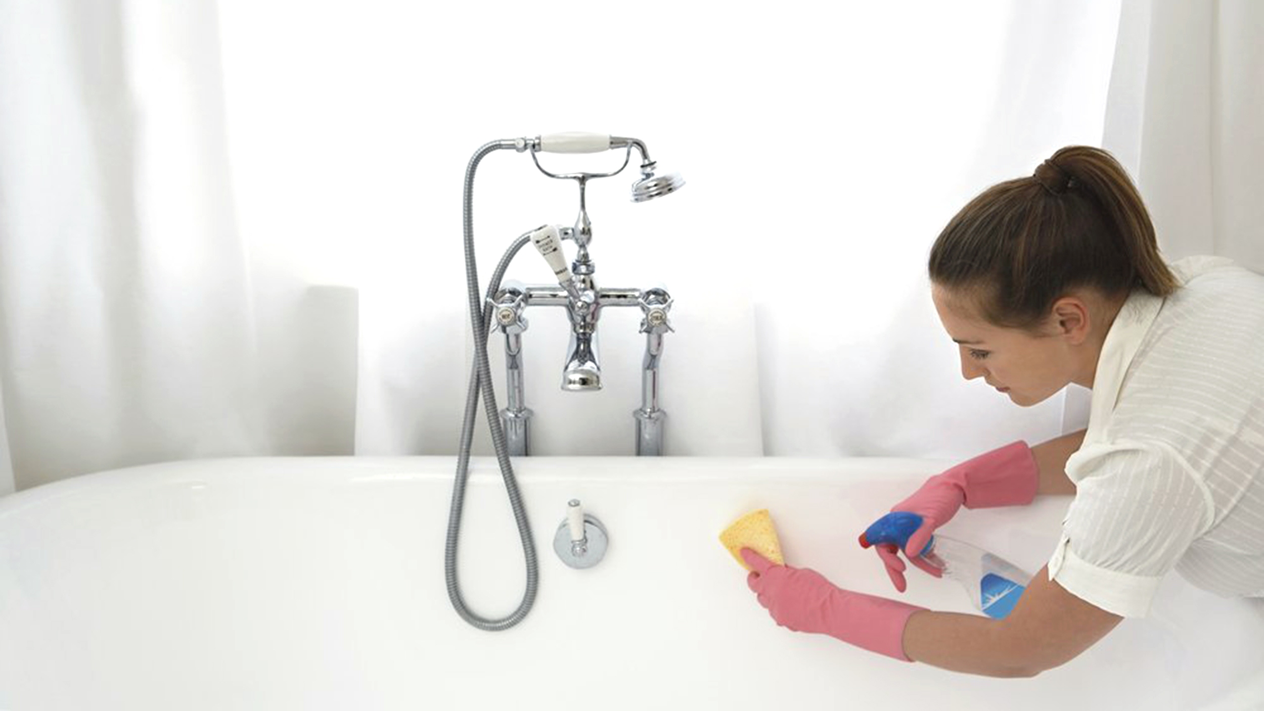
[[[1144,616],[1176,568],[1221,596],[1264,596],[1264,275],[1221,258],[1134,292],[1102,345],[1076,498],[1049,578]]]

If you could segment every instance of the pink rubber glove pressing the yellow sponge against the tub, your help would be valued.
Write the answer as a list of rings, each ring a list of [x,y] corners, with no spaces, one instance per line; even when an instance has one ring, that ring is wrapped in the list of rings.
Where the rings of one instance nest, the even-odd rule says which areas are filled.
[[[925,607],[842,590],[811,568],[779,566],[750,548],[742,548],[742,558],[753,568],[746,583],[779,625],[913,660],[904,654],[904,625]]]

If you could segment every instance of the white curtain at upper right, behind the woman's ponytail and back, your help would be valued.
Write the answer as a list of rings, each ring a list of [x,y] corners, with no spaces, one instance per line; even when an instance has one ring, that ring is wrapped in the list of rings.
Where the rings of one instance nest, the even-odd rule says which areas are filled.
[[[1124,0],[1102,145],[1138,181],[1168,259],[1264,272],[1264,5]]]

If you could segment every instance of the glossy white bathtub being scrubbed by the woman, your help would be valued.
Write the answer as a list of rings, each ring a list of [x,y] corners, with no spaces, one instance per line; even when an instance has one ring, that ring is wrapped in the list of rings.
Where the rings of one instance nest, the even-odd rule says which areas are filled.
[[[0,710],[1264,707],[1264,615],[1176,575],[1150,618],[1078,659],[994,679],[777,628],[717,541],[766,506],[791,565],[895,596],[856,538],[942,463],[516,460],[540,594],[501,633],[447,601],[455,457],[195,461],[39,486],[0,498]],[[471,471],[461,582],[501,616],[522,551],[495,461]],[[571,498],[611,534],[592,570],[552,552]],[[944,530],[1034,572],[1068,501]],[[973,611],[918,571],[902,599]]]

